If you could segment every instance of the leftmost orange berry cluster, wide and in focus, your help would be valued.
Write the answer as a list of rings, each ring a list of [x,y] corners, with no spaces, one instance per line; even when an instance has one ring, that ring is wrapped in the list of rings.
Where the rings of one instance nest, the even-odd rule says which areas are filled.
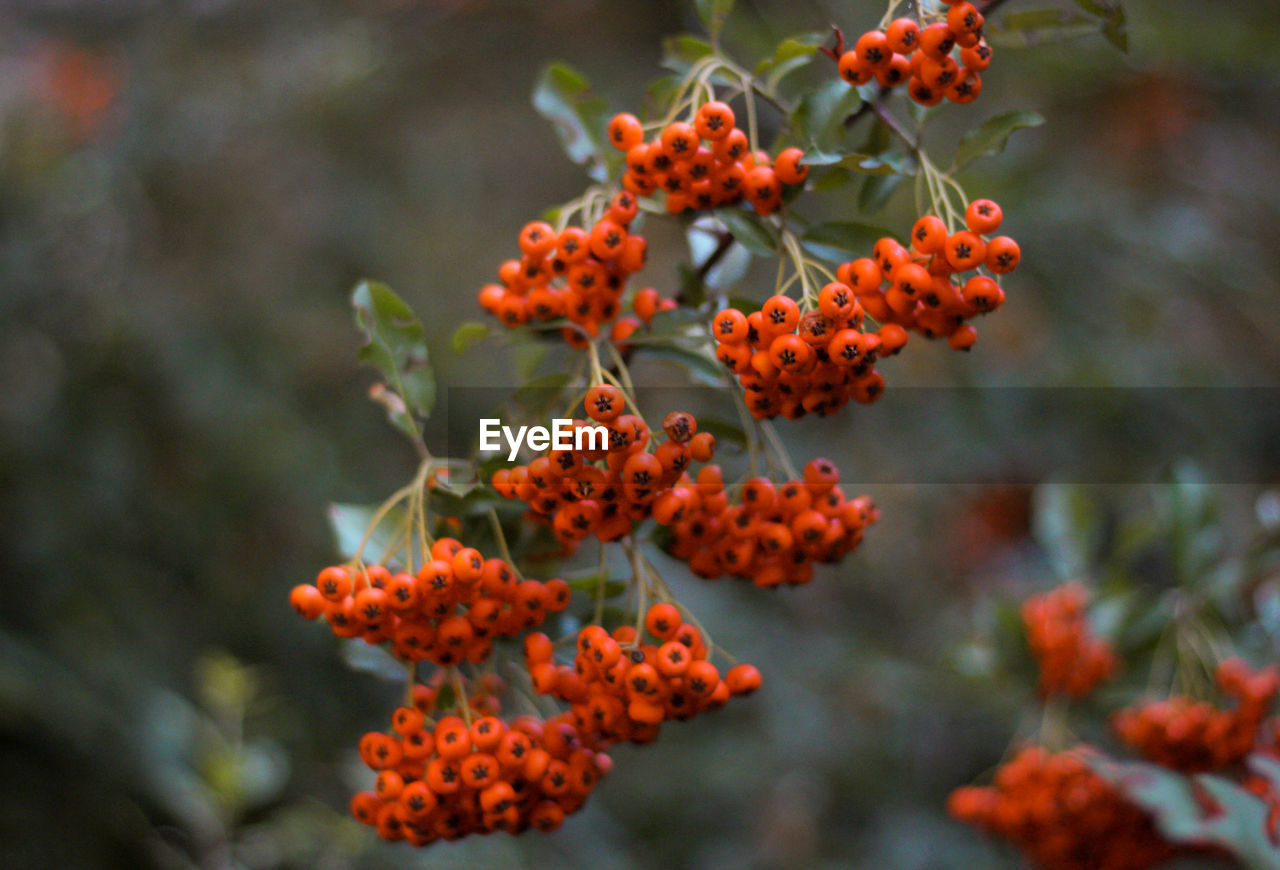
[[[332,566],[289,594],[298,614],[325,617],[339,637],[390,641],[397,658],[438,665],[484,661],[493,638],[540,626],[568,599],[563,580],[517,580],[502,559],[452,537],[435,541],[417,573]]]

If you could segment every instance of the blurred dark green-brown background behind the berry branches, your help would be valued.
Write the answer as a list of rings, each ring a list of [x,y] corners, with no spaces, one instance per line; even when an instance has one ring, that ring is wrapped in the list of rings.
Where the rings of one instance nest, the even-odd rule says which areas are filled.
[[[740,0],[727,41],[750,61],[878,6]],[[1164,388],[1192,453],[1247,436],[1230,473],[1201,458],[1229,539],[1256,504],[1272,516],[1277,482],[1280,434],[1233,430],[1189,388],[1280,386],[1280,8],[1125,6],[1129,56],[1098,37],[1002,51],[974,114],[931,132],[945,148],[1006,107],[1048,119],[965,178],[1023,244],[1009,303],[974,353],[916,343],[884,366],[877,412],[924,407],[913,386],[991,389],[922,418],[897,482],[856,408],[788,431],[883,505],[838,571],[780,595],[672,580],[767,691],[620,748],[553,837],[415,855],[346,816],[356,738],[399,687],[285,604],[334,558],[326,504],[376,502],[415,462],[365,398],[347,297],[385,280],[424,315],[442,384],[515,386],[500,344],[448,338],[518,228],[585,180],[531,83],[559,58],[634,109],[691,4],[0,5],[0,865],[1019,866],[942,806],[1025,733],[1032,684],[968,678],[956,650],[992,600],[1059,578],[1032,535],[1053,499],[1030,484],[1101,473],[1124,484],[1089,487],[1101,516],[1142,516],[1171,431],[1021,420],[993,450],[1016,388]],[[909,198],[877,220],[908,226]],[[671,260],[652,262],[672,292]],[[458,436],[443,417],[428,434]]]

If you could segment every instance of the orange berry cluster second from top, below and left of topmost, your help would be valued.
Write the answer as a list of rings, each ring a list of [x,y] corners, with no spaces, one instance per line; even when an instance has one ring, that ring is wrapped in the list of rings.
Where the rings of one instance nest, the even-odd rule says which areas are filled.
[[[782,187],[803,184],[809,166],[804,151],[786,148],[769,159],[751,151],[746,134],[735,127],[733,110],[718,100],[698,107],[691,122],[667,124],[645,142],[635,115],[609,122],[609,142],[626,152],[622,187],[636,196],[667,194],[667,211],[705,211],[746,200],[762,215],[782,205]]]

